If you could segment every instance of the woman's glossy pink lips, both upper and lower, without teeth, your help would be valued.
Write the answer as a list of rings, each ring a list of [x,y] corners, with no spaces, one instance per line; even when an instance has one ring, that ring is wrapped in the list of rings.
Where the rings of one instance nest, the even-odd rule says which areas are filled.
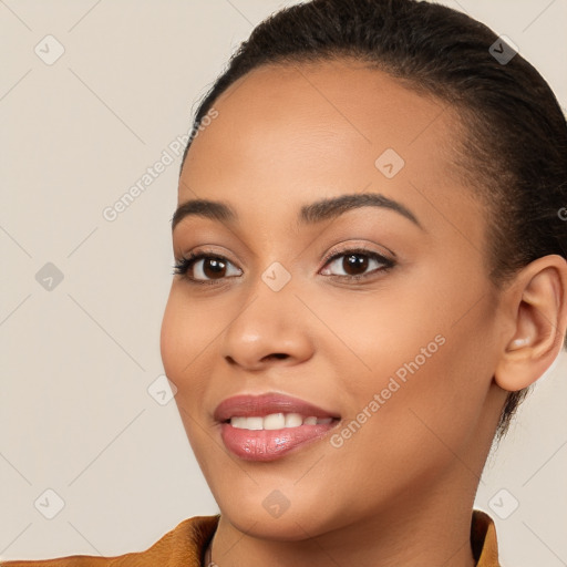
[[[245,430],[233,427],[228,420],[238,416],[261,416],[271,413],[299,413],[319,419],[332,417],[331,423],[300,425],[279,430]],[[245,461],[276,461],[290,451],[306,447],[327,436],[337,426],[340,415],[305,400],[285,394],[236,395],[224,400],[214,412],[220,424],[225,447]]]

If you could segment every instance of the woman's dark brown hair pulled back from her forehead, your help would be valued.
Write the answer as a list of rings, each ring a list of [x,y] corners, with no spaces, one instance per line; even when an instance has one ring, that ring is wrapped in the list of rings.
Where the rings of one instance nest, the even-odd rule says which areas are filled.
[[[425,1],[292,6],[267,18],[240,44],[200,102],[193,131],[229,85],[260,65],[353,56],[381,69],[457,111],[467,133],[461,141],[463,169],[487,204],[489,276],[503,285],[538,257],[566,257],[559,210],[567,206],[567,125],[543,76],[498,41],[476,20]],[[513,55],[509,61],[495,56],[504,50]],[[508,394],[498,439],[527,391]]]

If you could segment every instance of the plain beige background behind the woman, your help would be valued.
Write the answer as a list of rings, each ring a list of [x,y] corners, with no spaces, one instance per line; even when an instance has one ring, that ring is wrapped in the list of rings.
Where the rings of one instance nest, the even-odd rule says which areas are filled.
[[[0,1],[1,558],[141,550],[217,512],[175,403],[147,391],[163,373],[178,158],[115,220],[103,210],[187,131],[252,25],[290,3]],[[446,3],[512,38],[567,104],[567,0]],[[64,48],[53,64],[34,52],[56,54],[48,34]],[[49,267],[37,280],[47,262],[61,282]],[[561,354],[480,486],[504,565],[567,565],[566,373]],[[52,519],[48,488],[64,501]]]

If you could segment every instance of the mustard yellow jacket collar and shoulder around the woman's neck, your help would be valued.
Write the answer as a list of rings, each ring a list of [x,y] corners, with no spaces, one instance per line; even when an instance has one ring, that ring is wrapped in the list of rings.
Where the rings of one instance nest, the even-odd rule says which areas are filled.
[[[220,516],[196,516],[178,524],[145,551],[114,557],[72,555],[40,561],[0,561],[1,567],[202,567]],[[492,518],[473,511],[471,546],[477,567],[501,567]]]

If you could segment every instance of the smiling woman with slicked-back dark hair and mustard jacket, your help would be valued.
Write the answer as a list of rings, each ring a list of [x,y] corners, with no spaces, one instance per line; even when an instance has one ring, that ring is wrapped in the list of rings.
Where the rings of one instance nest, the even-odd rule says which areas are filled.
[[[567,127],[447,8],[313,0],[203,101],[166,374],[220,508],[150,549],[3,565],[498,566],[493,439],[567,328]]]

